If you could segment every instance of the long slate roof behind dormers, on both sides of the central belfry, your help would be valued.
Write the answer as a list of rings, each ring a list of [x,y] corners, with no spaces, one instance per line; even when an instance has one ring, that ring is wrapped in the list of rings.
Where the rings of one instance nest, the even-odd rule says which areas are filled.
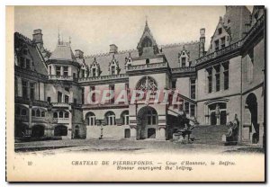
[[[166,59],[171,68],[179,67],[178,63],[178,54],[184,49],[189,52],[190,61],[192,61],[191,66],[195,65],[195,59],[199,58],[199,42],[194,41],[190,43],[178,43],[159,46],[159,49],[162,49],[162,53],[166,56]],[[97,63],[99,63],[102,74],[101,76],[110,75],[109,64],[112,61],[113,53],[98,54],[85,57],[85,64],[90,67],[96,58]],[[121,68],[120,74],[126,73],[125,69],[125,58],[138,58],[139,52],[137,49],[119,51],[114,54],[114,58],[118,61],[119,67]]]

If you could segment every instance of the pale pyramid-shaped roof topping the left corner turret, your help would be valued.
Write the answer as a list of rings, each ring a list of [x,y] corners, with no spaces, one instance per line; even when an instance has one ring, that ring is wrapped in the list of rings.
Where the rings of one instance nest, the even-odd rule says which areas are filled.
[[[74,61],[75,56],[68,42],[58,42],[49,59]]]

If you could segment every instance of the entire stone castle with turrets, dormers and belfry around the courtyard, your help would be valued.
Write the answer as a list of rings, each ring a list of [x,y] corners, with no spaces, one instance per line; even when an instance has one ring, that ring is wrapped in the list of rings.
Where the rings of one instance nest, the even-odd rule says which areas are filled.
[[[90,56],[60,37],[50,52],[41,29],[15,32],[15,138],[166,140],[184,114],[198,136],[220,139],[238,118],[238,143],[263,144],[265,7],[226,6],[217,22],[208,49],[203,28],[197,41],[159,45],[146,22],[137,49]],[[88,102],[94,91],[155,89],[178,90],[178,104]]]

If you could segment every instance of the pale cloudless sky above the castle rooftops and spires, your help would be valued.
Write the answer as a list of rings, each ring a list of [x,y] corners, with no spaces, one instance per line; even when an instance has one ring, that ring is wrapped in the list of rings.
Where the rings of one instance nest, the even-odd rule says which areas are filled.
[[[252,8],[248,7],[251,11]],[[58,31],[71,48],[85,56],[136,49],[146,19],[157,45],[199,40],[205,28],[206,49],[225,6],[16,6],[14,31],[32,39],[32,31],[41,29],[46,49],[53,51]]]

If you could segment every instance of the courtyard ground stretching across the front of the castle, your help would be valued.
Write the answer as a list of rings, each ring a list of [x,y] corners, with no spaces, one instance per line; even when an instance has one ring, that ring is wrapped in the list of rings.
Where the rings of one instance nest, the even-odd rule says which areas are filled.
[[[223,146],[206,144],[181,144],[171,141],[138,140],[127,139],[63,139],[16,143],[15,150],[19,153],[57,154],[63,152],[97,152],[97,151],[125,151],[134,153],[148,152],[179,152],[179,153],[233,153],[242,152],[263,153],[259,147],[250,146]]]

